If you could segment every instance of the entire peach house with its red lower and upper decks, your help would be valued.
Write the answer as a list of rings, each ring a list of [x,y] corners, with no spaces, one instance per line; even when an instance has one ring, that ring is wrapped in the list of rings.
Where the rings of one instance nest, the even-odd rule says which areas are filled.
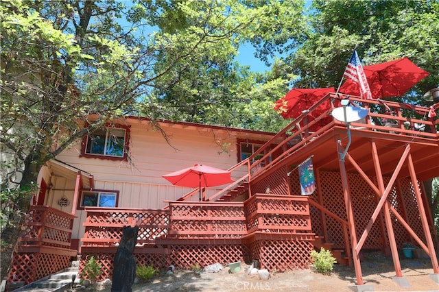
[[[376,125],[372,119],[387,116],[368,112],[363,121],[330,119],[316,128],[333,108],[309,115],[324,101],[333,107],[338,98],[326,95],[276,134],[168,121],[158,128],[138,117],[109,124],[41,171],[36,205],[69,215],[50,224],[54,229],[67,221],[56,230],[57,239],[45,235],[43,241],[79,250],[82,263],[97,256],[104,277],[111,276],[126,225],[139,226],[138,263],[156,267],[258,260],[261,267],[283,271],[306,268],[309,252],[325,247],[339,263],[354,267],[359,285],[361,250],[391,254],[396,277],[403,278],[399,250],[410,242],[429,256],[438,278],[437,236],[422,182],[439,176],[439,134],[410,127],[435,129],[438,120],[407,119],[401,104],[385,101],[398,127]],[[366,108],[383,106],[350,98]],[[316,191],[303,196],[298,167],[309,158]],[[161,177],[196,162],[228,169],[234,182],[203,190],[199,202],[198,188],[172,186]],[[23,247],[32,252],[32,245]],[[15,263],[14,272],[24,278],[24,265]]]

